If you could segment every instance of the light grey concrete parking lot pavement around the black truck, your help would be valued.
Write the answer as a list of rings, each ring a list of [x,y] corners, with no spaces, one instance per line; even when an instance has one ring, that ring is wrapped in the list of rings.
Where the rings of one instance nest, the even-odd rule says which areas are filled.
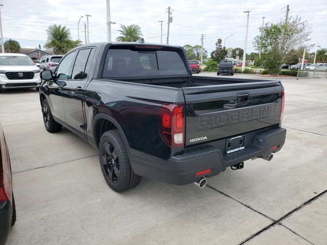
[[[326,244],[327,80],[282,82],[288,132],[272,161],[228,168],[203,189],[143,178],[123,193],[107,186],[97,150],[45,130],[35,90],[5,91],[17,209],[8,245]]]

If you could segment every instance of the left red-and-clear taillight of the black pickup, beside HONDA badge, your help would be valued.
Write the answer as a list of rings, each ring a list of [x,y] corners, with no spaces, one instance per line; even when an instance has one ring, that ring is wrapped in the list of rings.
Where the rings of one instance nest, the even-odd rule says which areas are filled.
[[[162,105],[159,111],[159,129],[162,139],[169,146],[184,145],[185,131],[184,111],[182,105]]]

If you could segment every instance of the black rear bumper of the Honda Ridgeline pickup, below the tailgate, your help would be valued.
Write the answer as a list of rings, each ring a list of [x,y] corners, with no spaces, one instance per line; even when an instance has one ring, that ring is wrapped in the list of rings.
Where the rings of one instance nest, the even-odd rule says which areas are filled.
[[[182,155],[174,156],[166,162],[155,162],[153,157],[131,152],[131,165],[137,175],[163,182],[185,185],[196,182],[201,177],[213,177],[221,173],[228,166],[257,158],[267,157],[272,152],[281,150],[285,143],[286,129],[275,128],[246,133],[245,137],[251,141],[245,149],[225,154],[225,139],[186,148]],[[270,149],[278,145],[278,148]],[[162,160],[162,159],[161,159]],[[209,174],[196,176],[196,173],[211,169]]]

